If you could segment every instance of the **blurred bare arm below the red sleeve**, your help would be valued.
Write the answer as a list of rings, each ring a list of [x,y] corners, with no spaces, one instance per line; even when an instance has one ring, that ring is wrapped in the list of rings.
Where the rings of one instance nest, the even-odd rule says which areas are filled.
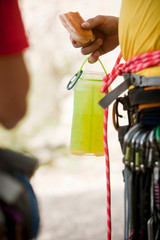
[[[13,128],[27,109],[28,72],[22,54],[0,56],[0,123]]]

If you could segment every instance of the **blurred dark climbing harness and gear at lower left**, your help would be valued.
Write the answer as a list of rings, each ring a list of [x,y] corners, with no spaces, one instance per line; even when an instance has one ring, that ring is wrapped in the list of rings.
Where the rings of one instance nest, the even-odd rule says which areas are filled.
[[[37,160],[0,149],[0,239],[31,240],[39,230],[39,209],[30,178]]]

